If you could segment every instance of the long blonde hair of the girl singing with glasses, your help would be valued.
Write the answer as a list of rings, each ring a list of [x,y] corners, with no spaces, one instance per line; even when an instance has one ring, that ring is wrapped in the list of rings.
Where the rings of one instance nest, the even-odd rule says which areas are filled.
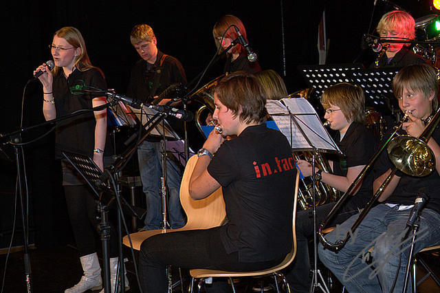
[[[57,30],[54,34],[54,36],[58,36],[58,38],[65,39],[67,43],[72,45],[75,48],[80,48],[80,54],[75,57],[75,63],[74,67],[78,69],[81,72],[85,72],[91,68],[97,68],[91,65],[89,54],[87,54],[87,50],[85,48],[85,41],[83,38],[83,35],[80,33],[80,31],[77,28],[74,28],[72,26],[66,26],[64,28],[61,28]],[[57,74],[61,70],[61,67],[54,67],[53,72],[54,74]],[[102,74],[102,72],[101,72]],[[104,74],[102,74],[104,76]]]

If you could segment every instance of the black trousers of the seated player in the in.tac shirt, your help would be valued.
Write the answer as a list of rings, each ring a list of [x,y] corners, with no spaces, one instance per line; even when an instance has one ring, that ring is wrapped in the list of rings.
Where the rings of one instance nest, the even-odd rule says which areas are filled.
[[[238,252],[228,254],[218,228],[168,232],[146,239],[140,248],[139,273],[143,292],[166,292],[166,265],[213,270],[264,270],[283,261],[243,263]]]

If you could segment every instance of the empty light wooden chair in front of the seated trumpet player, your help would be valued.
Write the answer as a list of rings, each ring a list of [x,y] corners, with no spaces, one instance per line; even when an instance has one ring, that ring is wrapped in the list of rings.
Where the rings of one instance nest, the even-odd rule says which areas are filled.
[[[226,210],[221,188],[204,199],[194,200],[190,197],[189,182],[196,162],[197,155],[193,155],[186,163],[184,175],[181,178],[179,196],[181,206],[184,208],[187,217],[186,225],[178,229],[146,230],[131,233],[122,239],[122,243],[125,246],[131,247],[133,245],[135,250],[140,250],[142,242],[153,235],[184,230],[208,229],[222,224],[226,217]]]

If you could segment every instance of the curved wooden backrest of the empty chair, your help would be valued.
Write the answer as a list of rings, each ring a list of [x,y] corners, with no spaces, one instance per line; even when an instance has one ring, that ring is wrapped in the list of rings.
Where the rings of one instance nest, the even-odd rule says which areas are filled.
[[[197,163],[197,155],[186,162],[184,175],[180,185],[180,203],[184,208],[187,222],[184,230],[208,229],[220,226],[226,217],[225,201],[221,188],[204,199],[192,199],[189,193],[189,183],[192,171]]]

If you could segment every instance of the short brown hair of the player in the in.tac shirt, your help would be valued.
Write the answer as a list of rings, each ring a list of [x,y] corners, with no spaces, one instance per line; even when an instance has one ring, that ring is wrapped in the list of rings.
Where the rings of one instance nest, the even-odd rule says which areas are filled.
[[[234,72],[219,81],[214,89],[217,98],[236,116],[241,108],[240,120],[245,123],[265,122],[266,96],[259,80],[246,72]]]

